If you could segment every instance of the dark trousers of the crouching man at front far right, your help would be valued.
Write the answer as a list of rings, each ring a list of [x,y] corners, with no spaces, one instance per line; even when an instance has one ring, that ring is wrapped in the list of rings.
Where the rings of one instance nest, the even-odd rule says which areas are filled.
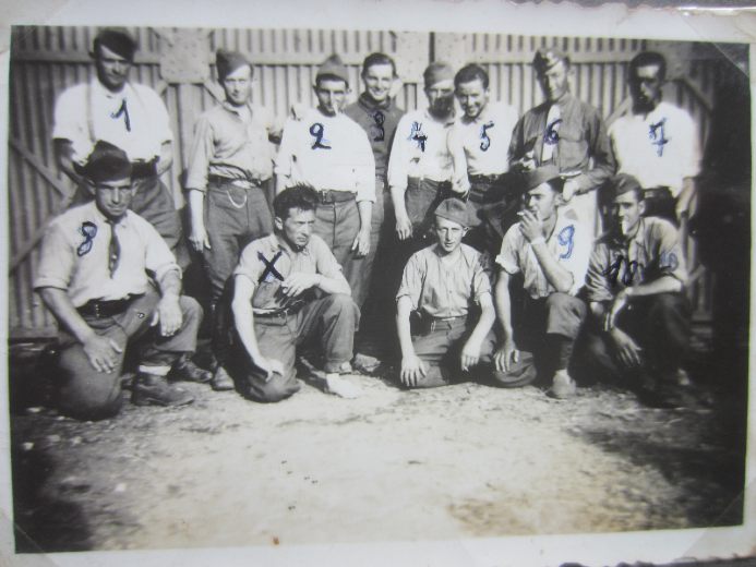
[[[643,349],[643,371],[655,384],[676,385],[676,372],[691,337],[691,306],[684,293],[659,293],[631,299],[616,325]],[[580,366],[595,379],[625,383],[638,370],[626,370],[616,358],[611,337],[598,328],[588,329],[580,348]]]

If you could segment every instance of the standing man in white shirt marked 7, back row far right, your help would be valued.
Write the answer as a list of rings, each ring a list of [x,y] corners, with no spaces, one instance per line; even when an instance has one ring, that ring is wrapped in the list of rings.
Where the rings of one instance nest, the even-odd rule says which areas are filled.
[[[698,132],[691,114],[663,101],[667,61],[644,51],[629,63],[632,112],[609,128],[619,171],[644,189],[646,216],[677,222],[689,215],[700,172]]]

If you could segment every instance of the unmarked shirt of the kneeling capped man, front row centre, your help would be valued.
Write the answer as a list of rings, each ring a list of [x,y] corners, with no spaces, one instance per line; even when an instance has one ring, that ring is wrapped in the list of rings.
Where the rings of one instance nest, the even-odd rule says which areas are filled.
[[[446,318],[467,315],[484,293],[491,293],[491,281],[480,252],[463,244],[456,261],[446,264],[433,244],[409,258],[396,299],[408,297],[413,310]]]

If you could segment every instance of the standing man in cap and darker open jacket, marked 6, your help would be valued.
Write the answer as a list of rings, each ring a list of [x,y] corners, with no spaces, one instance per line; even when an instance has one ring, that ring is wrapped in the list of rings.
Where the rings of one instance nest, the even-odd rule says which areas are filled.
[[[532,61],[545,101],[528,110],[512,134],[512,167],[532,169],[548,164],[569,173],[562,198],[580,221],[598,230],[597,191],[614,174],[607,129],[599,111],[569,92],[569,58],[543,48]]]

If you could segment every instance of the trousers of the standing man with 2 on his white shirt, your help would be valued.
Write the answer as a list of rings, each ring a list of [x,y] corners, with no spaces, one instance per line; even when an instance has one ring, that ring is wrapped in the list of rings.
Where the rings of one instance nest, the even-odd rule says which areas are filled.
[[[361,305],[368,293],[369,282],[362,274],[364,257],[357,257],[356,251],[351,250],[359,231],[360,213],[353,196],[348,201],[317,203],[313,232],[322,238],[333,252],[349,282],[355,303]]]

